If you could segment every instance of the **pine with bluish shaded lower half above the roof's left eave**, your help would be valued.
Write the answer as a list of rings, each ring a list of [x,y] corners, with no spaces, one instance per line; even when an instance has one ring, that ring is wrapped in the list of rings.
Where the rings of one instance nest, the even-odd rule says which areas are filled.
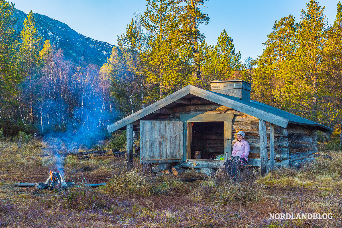
[[[113,48],[108,64],[101,68],[107,69],[111,79],[111,94],[124,115],[139,110],[144,101],[145,77],[140,58],[142,39],[141,30],[132,19],[127,25],[126,33],[118,36],[119,50]]]

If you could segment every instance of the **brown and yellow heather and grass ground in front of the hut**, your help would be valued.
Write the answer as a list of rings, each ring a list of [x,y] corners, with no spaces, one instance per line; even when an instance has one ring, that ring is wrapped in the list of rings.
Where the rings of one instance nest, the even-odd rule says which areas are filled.
[[[302,169],[280,169],[240,182],[224,176],[194,183],[156,175],[124,158],[65,159],[68,191],[20,188],[17,182],[44,182],[52,157],[38,139],[19,145],[0,142],[0,227],[341,227],[342,155],[316,159]],[[6,171],[8,170],[8,171]],[[89,189],[88,183],[108,183]],[[269,213],[333,213],[331,220],[272,220]]]

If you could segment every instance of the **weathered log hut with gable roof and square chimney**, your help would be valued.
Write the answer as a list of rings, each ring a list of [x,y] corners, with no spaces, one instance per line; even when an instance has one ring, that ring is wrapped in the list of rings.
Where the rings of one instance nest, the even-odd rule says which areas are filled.
[[[236,133],[250,144],[248,163],[262,174],[275,166],[299,166],[314,159],[317,130],[332,129],[250,100],[251,83],[212,81],[212,91],[192,85],[107,127],[127,130],[127,162],[132,162],[133,131],[140,131],[142,163],[177,162],[183,167],[220,168],[231,156]],[[201,159],[196,159],[200,151]],[[224,155],[224,161],[216,156]]]

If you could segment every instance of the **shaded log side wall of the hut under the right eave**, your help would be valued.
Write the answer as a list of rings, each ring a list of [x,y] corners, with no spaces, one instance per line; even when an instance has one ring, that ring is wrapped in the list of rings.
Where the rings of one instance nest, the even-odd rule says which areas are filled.
[[[313,154],[317,152],[317,128],[289,124],[287,130],[290,166],[300,167],[306,162],[313,161]]]

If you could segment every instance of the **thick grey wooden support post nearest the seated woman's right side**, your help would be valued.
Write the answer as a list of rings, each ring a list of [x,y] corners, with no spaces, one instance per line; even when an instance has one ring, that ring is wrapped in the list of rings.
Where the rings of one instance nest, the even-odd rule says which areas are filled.
[[[261,175],[268,173],[266,121],[259,119]]]

